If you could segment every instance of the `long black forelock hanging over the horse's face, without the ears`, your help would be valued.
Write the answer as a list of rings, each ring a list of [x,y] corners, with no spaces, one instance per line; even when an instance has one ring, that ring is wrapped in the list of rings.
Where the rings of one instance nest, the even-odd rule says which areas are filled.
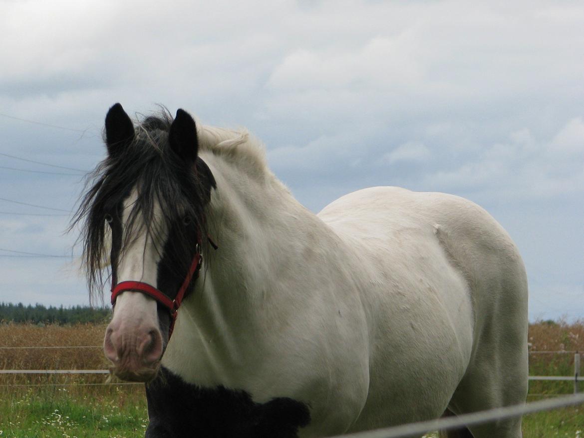
[[[154,218],[155,201],[161,206],[164,223],[182,224],[185,218],[189,220],[188,226],[173,227],[178,274],[184,273],[183,265],[190,260],[183,255],[192,253],[196,244],[189,227],[196,227],[202,236],[207,235],[204,207],[215,181],[202,159],[197,158],[193,165],[187,165],[171,150],[168,133],[172,122],[173,118],[166,109],[144,117],[134,128],[133,141],[119,153],[109,154],[88,175],[86,187],[91,188],[82,196],[70,228],[81,224],[79,240],[83,244],[90,298],[102,296],[103,287],[111,275],[111,270],[105,268],[110,256],[106,215],[119,215],[121,204],[134,187],[137,201],[123,232],[120,251],[123,252],[135,232],[148,232],[153,241],[157,241],[161,224]],[[145,230],[137,229],[140,215]],[[157,248],[157,251],[162,253],[163,249]]]

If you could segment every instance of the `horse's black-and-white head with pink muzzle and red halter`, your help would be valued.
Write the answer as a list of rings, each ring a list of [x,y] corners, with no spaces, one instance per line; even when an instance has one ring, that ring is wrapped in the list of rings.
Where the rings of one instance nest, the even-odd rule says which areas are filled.
[[[107,158],[77,216],[85,218],[89,288],[102,290],[109,265],[114,311],[105,354],[116,376],[148,381],[159,369],[177,302],[194,287],[215,182],[197,157],[196,126],[183,110],[174,120],[165,112],[134,127],[118,103],[107,113],[105,142]]]

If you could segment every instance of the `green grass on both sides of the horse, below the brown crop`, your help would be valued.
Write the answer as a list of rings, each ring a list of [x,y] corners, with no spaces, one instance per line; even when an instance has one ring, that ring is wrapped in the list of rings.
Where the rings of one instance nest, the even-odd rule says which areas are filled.
[[[530,359],[532,375],[573,374],[572,354]],[[5,376],[0,383],[0,438],[134,438],[148,424],[142,385],[85,385],[103,383],[102,376]],[[573,383],[531,381],[529,392],[528,401],[572,394]],[[525,416],[523,437],[584,438],[584,405]]]

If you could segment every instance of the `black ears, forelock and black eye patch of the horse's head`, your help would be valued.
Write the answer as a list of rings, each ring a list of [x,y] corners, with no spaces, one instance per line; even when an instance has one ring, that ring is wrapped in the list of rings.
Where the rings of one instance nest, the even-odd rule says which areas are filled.
[[[106,116],[104,140],[108,155],[89,175],[93,185],[81,200],[71,223],[82,224],[81,241],[88,274],[90,297],[100,296],[107,281],[104,266],[111,262],[113,283],[116,267],[124,248],[135,235],[145,231],[158,241],[161,223],[172,227],[173,244],[157,248],[172,263],[166,263],[164,286],[167,296],[176,296],[176,284],[182,282],[193,259],[197,232],[203,237],[202,251],[207,251],[204,210],[216,187],[213,173],[198,157],[199,145],[192,117],[183,110],[173,119],[163,110],[158,116],[148,116],[134,126],[121,105],[114,105]],[[137,192],[124,230],[121,212],[132,189]],[[157,221],[154,206],[158,202],[162,221]],[[141,217],[144,221],[137,221]],[[189,227],[183,227],[185,221]],[[138,225],[140,223],[141,225]],[[137,230],[143,226],[145,230]],[[107,233],[112,228],[112,245],[108,253]],[[194,230],[194,232],[193,232]],[[106,275],[104,275],[106,274]]]

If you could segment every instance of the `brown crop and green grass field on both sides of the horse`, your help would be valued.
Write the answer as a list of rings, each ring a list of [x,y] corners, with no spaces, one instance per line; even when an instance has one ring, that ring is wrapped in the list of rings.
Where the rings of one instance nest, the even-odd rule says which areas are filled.
[[[0,347],[99,346],[104,325],[0,324]],[[584,324],[537,322],[530,349],[584,352]],[[106,369],[100,347],[0,350],[0,369]],[[532,354],[530,374],[571,376],[573,354]],[[106,384],[103,375],[0,374],[0,438],[133,438],[144,436],[147,409],[140,384]],[[584,391],[584,384],[580,384]],[[573,392],[572,382],[530,383],[528,401]],[[524,438],[584,438],[584,405],[523,419]],[[430,433],[427,437],[435,437]]]

